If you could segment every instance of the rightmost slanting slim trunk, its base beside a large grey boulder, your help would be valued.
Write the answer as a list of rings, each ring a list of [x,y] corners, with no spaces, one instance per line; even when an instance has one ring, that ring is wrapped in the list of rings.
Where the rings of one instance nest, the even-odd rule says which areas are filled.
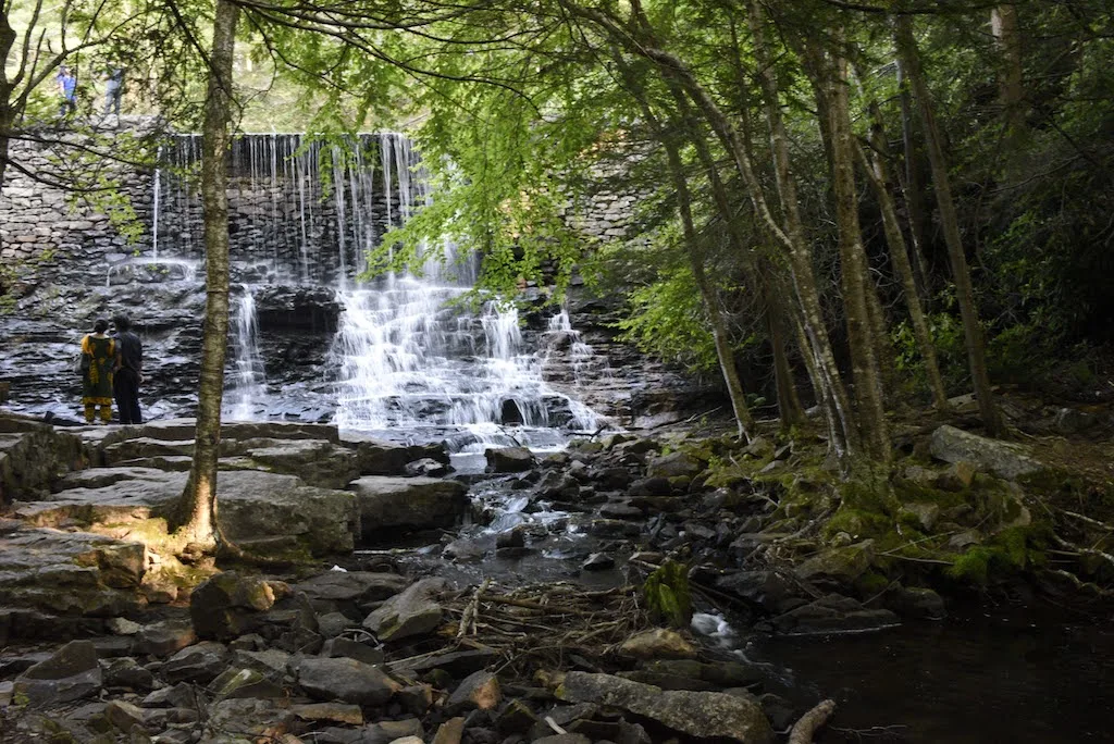
[[[940,211],[940,223],[944,226],[944,238],[948,245],[948,258],[951,263],[952,280],[956,283],[956,300],[959,302],[959,313],[964,322],[964,340],[967,346],[967,359],[970,363],[971,383],[978,397],[979,414],[983,425],[991,434],[1003,432],[1001,419],[990,392],[990,376],[986,369],[986,344],[983,340],[983,325],[975,307],[975,292],[971,287],[970,270],[967,266],[967,255],[964,252],[962,237],[959,234],[959,218],[951,197],[951,184],[948,180],[948,161],[944,155],[940,141],[940,129],[936,123],[932,101],[929,98],[928,85],[920,68],[920,57],[917,42],[912,36],[912,21],[907,16],[895,20],[895,42],[898,56],[905,63],[909,82],[912,85],[917,107],[920,110],[921,124],[925,128],[925,140],[928,145],[928,160],[932,167],[932,186],[936,190],[937,208]]]

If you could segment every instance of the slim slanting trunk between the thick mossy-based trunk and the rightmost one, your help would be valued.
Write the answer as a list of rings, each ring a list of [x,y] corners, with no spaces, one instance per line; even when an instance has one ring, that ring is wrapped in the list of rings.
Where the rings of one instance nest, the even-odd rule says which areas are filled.
[[[946,411],[948,409],[948,394],[944,389],[944,378],[940,375],[940,365],[936,359],[936,344],[932,343],[932,334],[928,330],[925,310],[921,307],[920,296],[917,293],[917,282],[913,278],[912,265],[909,263],[909,252],[906,246],[905,235],[901,233],[897,207],[893,204],[893,196],[890,194],[886,160],[878,149],[886,145],[881,130],[881,120],[876,116],[879,114],[878,105],[871,101],[870,108],[873,116],[871,140],[874,150],[868,158],[864,148],[859,146],[859,158],[863,173],[867,174],[867,180],[870,182],[871,187],[874,189],[874,195],[878,197],[878,207],[882,213],[882,231],[886,234],[886,244],[890,249],[890,261],[893,264],[893,271],[901,282],[901,293],[905,295],[906,307],[909,310],[909,320],[912,323],[913,336],[917,339],[917,346],[925,362],[925,373],[928,378],[928,389],[932,394],[932,405],[940,411]]]

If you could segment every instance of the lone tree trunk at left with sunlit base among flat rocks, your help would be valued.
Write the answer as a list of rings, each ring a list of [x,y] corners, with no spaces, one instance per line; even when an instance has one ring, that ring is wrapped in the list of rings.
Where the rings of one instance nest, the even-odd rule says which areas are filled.
[[[205,123],[202,129],[202,206],[205,218],[205,329],[194,462],[183,493],[178,533],[206,549],[217,545],[216,476],[221,446],[224,358],[228,346],[227,157],[232,140],[232,61],[240,7],[217,0],[213,19]]]

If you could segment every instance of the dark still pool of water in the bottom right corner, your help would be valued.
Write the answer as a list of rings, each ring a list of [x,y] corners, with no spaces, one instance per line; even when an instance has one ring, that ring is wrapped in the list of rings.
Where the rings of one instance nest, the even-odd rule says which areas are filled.
[[[773,689],[839,704],[818,744],[1114,742],[1114,623],[967,610],[877,634],[752,640]]]

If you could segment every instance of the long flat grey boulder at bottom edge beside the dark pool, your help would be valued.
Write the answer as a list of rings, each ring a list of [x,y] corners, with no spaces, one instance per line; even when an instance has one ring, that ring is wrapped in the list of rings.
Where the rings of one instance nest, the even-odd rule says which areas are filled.
[[[726,738],[766,744],[773,731],[754,701],[723,693],[663,691],[609,674],[569,672],[557,696],[570,703],[595,703],[651,718],[697,738]]]

